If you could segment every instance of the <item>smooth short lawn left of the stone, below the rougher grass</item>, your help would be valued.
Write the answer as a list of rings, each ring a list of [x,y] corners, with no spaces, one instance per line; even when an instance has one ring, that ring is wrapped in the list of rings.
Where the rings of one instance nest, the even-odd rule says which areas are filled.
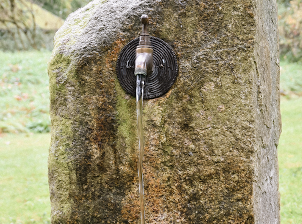
[[[0,223],[50,223],[47,157],[50,134],[0,138]]]

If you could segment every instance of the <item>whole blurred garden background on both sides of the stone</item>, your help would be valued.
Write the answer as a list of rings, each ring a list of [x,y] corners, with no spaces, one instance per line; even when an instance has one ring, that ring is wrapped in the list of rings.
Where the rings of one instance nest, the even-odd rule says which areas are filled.
[[[86,0],[0,0],[0,224],[50,223],[47,61]],[[281,224],[302,224],[302,1],[278,0]]]

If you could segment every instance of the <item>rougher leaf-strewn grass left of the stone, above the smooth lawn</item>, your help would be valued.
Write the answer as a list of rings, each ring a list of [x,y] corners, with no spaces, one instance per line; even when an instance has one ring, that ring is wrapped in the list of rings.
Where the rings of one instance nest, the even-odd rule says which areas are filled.
[[[0,51],[0,133],[49,132],[50,51]]]

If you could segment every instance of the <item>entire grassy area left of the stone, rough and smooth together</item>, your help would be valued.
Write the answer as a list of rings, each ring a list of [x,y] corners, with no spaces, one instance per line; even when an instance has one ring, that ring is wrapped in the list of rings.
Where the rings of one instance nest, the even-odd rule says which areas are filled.
[[[0,224],[50,223],[50,54],[0,51]]]

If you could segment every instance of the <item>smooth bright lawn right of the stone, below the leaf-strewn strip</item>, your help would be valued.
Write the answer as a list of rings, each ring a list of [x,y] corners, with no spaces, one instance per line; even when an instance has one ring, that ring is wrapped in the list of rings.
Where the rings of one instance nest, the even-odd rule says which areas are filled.
[[[281,101],[278,146],[281,224],[302,223],[302,98]]]

